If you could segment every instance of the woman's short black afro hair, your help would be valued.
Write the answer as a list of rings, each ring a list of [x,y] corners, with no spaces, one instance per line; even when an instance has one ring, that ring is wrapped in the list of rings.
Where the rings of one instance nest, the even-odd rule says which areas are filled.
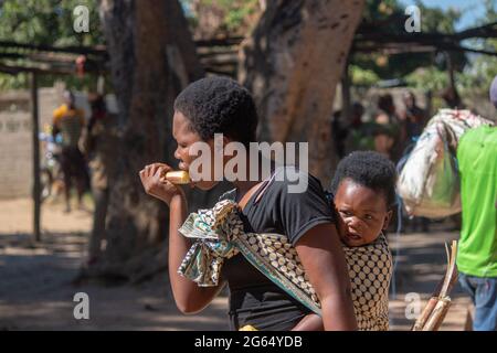
[[[246,147],[255,141],[258,118],[254,99],[231,78],[212,76],[191,83],[176,98],[175,110],[190,120],[204,141],[214,133]]]

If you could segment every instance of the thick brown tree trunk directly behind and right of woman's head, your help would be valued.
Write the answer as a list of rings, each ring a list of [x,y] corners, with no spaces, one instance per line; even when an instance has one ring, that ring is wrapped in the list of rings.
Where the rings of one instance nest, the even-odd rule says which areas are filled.
[[[240,51],[239,81],[254,94],[260,140],[308,141],[309,171],[328,185],[330,117],[363,0],[275,0]]]

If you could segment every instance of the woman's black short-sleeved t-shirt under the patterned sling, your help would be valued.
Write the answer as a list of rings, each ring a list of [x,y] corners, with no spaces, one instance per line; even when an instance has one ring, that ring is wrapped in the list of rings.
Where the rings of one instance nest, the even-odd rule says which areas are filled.
[[[255,192],[246,203],[242,221],[245,232],[278,233],[295,245],[307,231],[322,223],[334,223],[331,207],[316,178],[302,171],[308,188],[303,193],[288,192],[292,181],[278,180],[288,169],[279,168],[271,180]],[[267,188],[265,188],[267,186]],[[260,193],[260,200],[255,202]],[[222,197],[236,199],[235,191]],[[287,295],[253,267],[242,254],[226,260],[222,278],[230,289],[230,329],[251,324],[258,330],[286,331],[294,328],[310,310]]]

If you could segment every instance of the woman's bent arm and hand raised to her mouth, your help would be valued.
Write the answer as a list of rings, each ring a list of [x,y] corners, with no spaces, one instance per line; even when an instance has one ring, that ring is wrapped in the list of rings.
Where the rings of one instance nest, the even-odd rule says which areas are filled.
[[[178,274],[178,268],[191,247],[191,243],[178,229],[187,218],[187,199],[183,191],[161,181],[161,175],[171,168],[155,163],[140,171],[145,191],[169,205],[169,279],[176,304],[182,313],[195,313],[204,309],[218,296],[224,284],[216,287],[199,287],[195,282]]]

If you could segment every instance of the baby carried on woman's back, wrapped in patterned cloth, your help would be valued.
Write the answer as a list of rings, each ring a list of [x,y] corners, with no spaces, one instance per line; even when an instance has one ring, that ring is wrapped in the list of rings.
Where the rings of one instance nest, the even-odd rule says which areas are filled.
[[[359,330],[389,329],[389,286],[392,257],[383,235],[395,203],[393,163],[372,151],[352,152],[340,161],[329,194],[349,268],[351,297]],[[322,330],[308,314],[294,330]]]

